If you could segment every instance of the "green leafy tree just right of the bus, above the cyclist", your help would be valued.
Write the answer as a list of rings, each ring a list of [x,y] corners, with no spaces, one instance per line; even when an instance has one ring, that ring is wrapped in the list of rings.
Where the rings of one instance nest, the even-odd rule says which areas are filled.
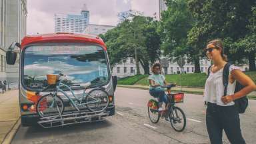
[[[153,63],[159,58],[161,39],[157,33],[158,21],[152,17],[135,15],[133,11],[120,14],[121,23],[101,35],[109,53],[111,65],[119,63],[127,57],[137,57],[145,73],[149,73],[149,61]]]

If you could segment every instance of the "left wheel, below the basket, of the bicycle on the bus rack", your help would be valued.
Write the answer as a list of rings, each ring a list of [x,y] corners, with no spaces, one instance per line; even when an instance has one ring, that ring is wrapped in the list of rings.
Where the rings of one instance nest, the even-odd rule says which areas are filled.
[[[44,95],[37,101],[36,110],[41,118],[56,119],[64,111],[63,100],[52,94]]]

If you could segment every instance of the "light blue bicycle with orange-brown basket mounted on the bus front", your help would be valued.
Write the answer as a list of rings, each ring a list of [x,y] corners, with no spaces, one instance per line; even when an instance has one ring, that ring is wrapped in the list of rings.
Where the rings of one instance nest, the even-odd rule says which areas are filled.
[[[53,89],[53,92],[43,95],[37,101],[36,111],[41,119],[47,122],[55,122],[57,121],[56,119],[59,119],[58,121],[61,121],[61,123],[63,123],[63,120],[65,120],[65,117],[67,116],[67,120],[70,120],[70,117],[72,117],[72,119],[75,119],[75,121],[77,121],[77,117],[80,119],[88,118],[88,115],[90,113],[95,114],[99,112],[97,113],[97,115],[95,115],[95,117],[103,116],[106,114],[102,113],[109,105],[109,95],[105,90],[97,87],[91,89],[89,92],[86,92],[89,88],[89,85],[65,85],[64,83],[62,83],[62,80],[59,79],[59,77],[64,76],[65,75],[61,73],[59,75],[47,75],[47,83],[49,84],[49,86],[54,86],[55,88]],[[81,97],[78,97],[74,94],[71,86],[83,88],[83,94],[81,95]],[[65,92],[61,87],[67,88],[68,91],[71,92],[71,95],[73,97],[71,98],[67,94],[67,92]],[[37,94],[39,95],[40,92],[37,92]],[[77,113],[69,113],[67,115],[63,114],[65,105],[67,104],[64,103],[63,98],[60,97],[59,93],[61,93],[61,97],[67,98],[67,100],[65,99],[65,102],[68,103],[69,107],[75,107]],[[85,113],[85,111],[81,111],[79,107],[89,109],[90,112]],[[40,123],[43,122],[39,121],[39,124]]]

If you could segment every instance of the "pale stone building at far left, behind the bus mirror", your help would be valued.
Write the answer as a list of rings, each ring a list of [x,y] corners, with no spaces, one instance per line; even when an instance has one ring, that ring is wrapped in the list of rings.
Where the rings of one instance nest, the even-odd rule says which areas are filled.
[[[21,43],[26,35],[27,0],[0,0],[0,7],[0,81],[17,83],[19,62],[7,65],[5,56],[9,45],[13,41]]]

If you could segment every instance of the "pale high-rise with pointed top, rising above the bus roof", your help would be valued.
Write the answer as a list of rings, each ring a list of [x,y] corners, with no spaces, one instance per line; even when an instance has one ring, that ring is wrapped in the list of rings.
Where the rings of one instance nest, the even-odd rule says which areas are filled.
[[[86,5],[83,5],[80,15],[55,14],[55,33],[83,33],[88,24],[89,11]]]

